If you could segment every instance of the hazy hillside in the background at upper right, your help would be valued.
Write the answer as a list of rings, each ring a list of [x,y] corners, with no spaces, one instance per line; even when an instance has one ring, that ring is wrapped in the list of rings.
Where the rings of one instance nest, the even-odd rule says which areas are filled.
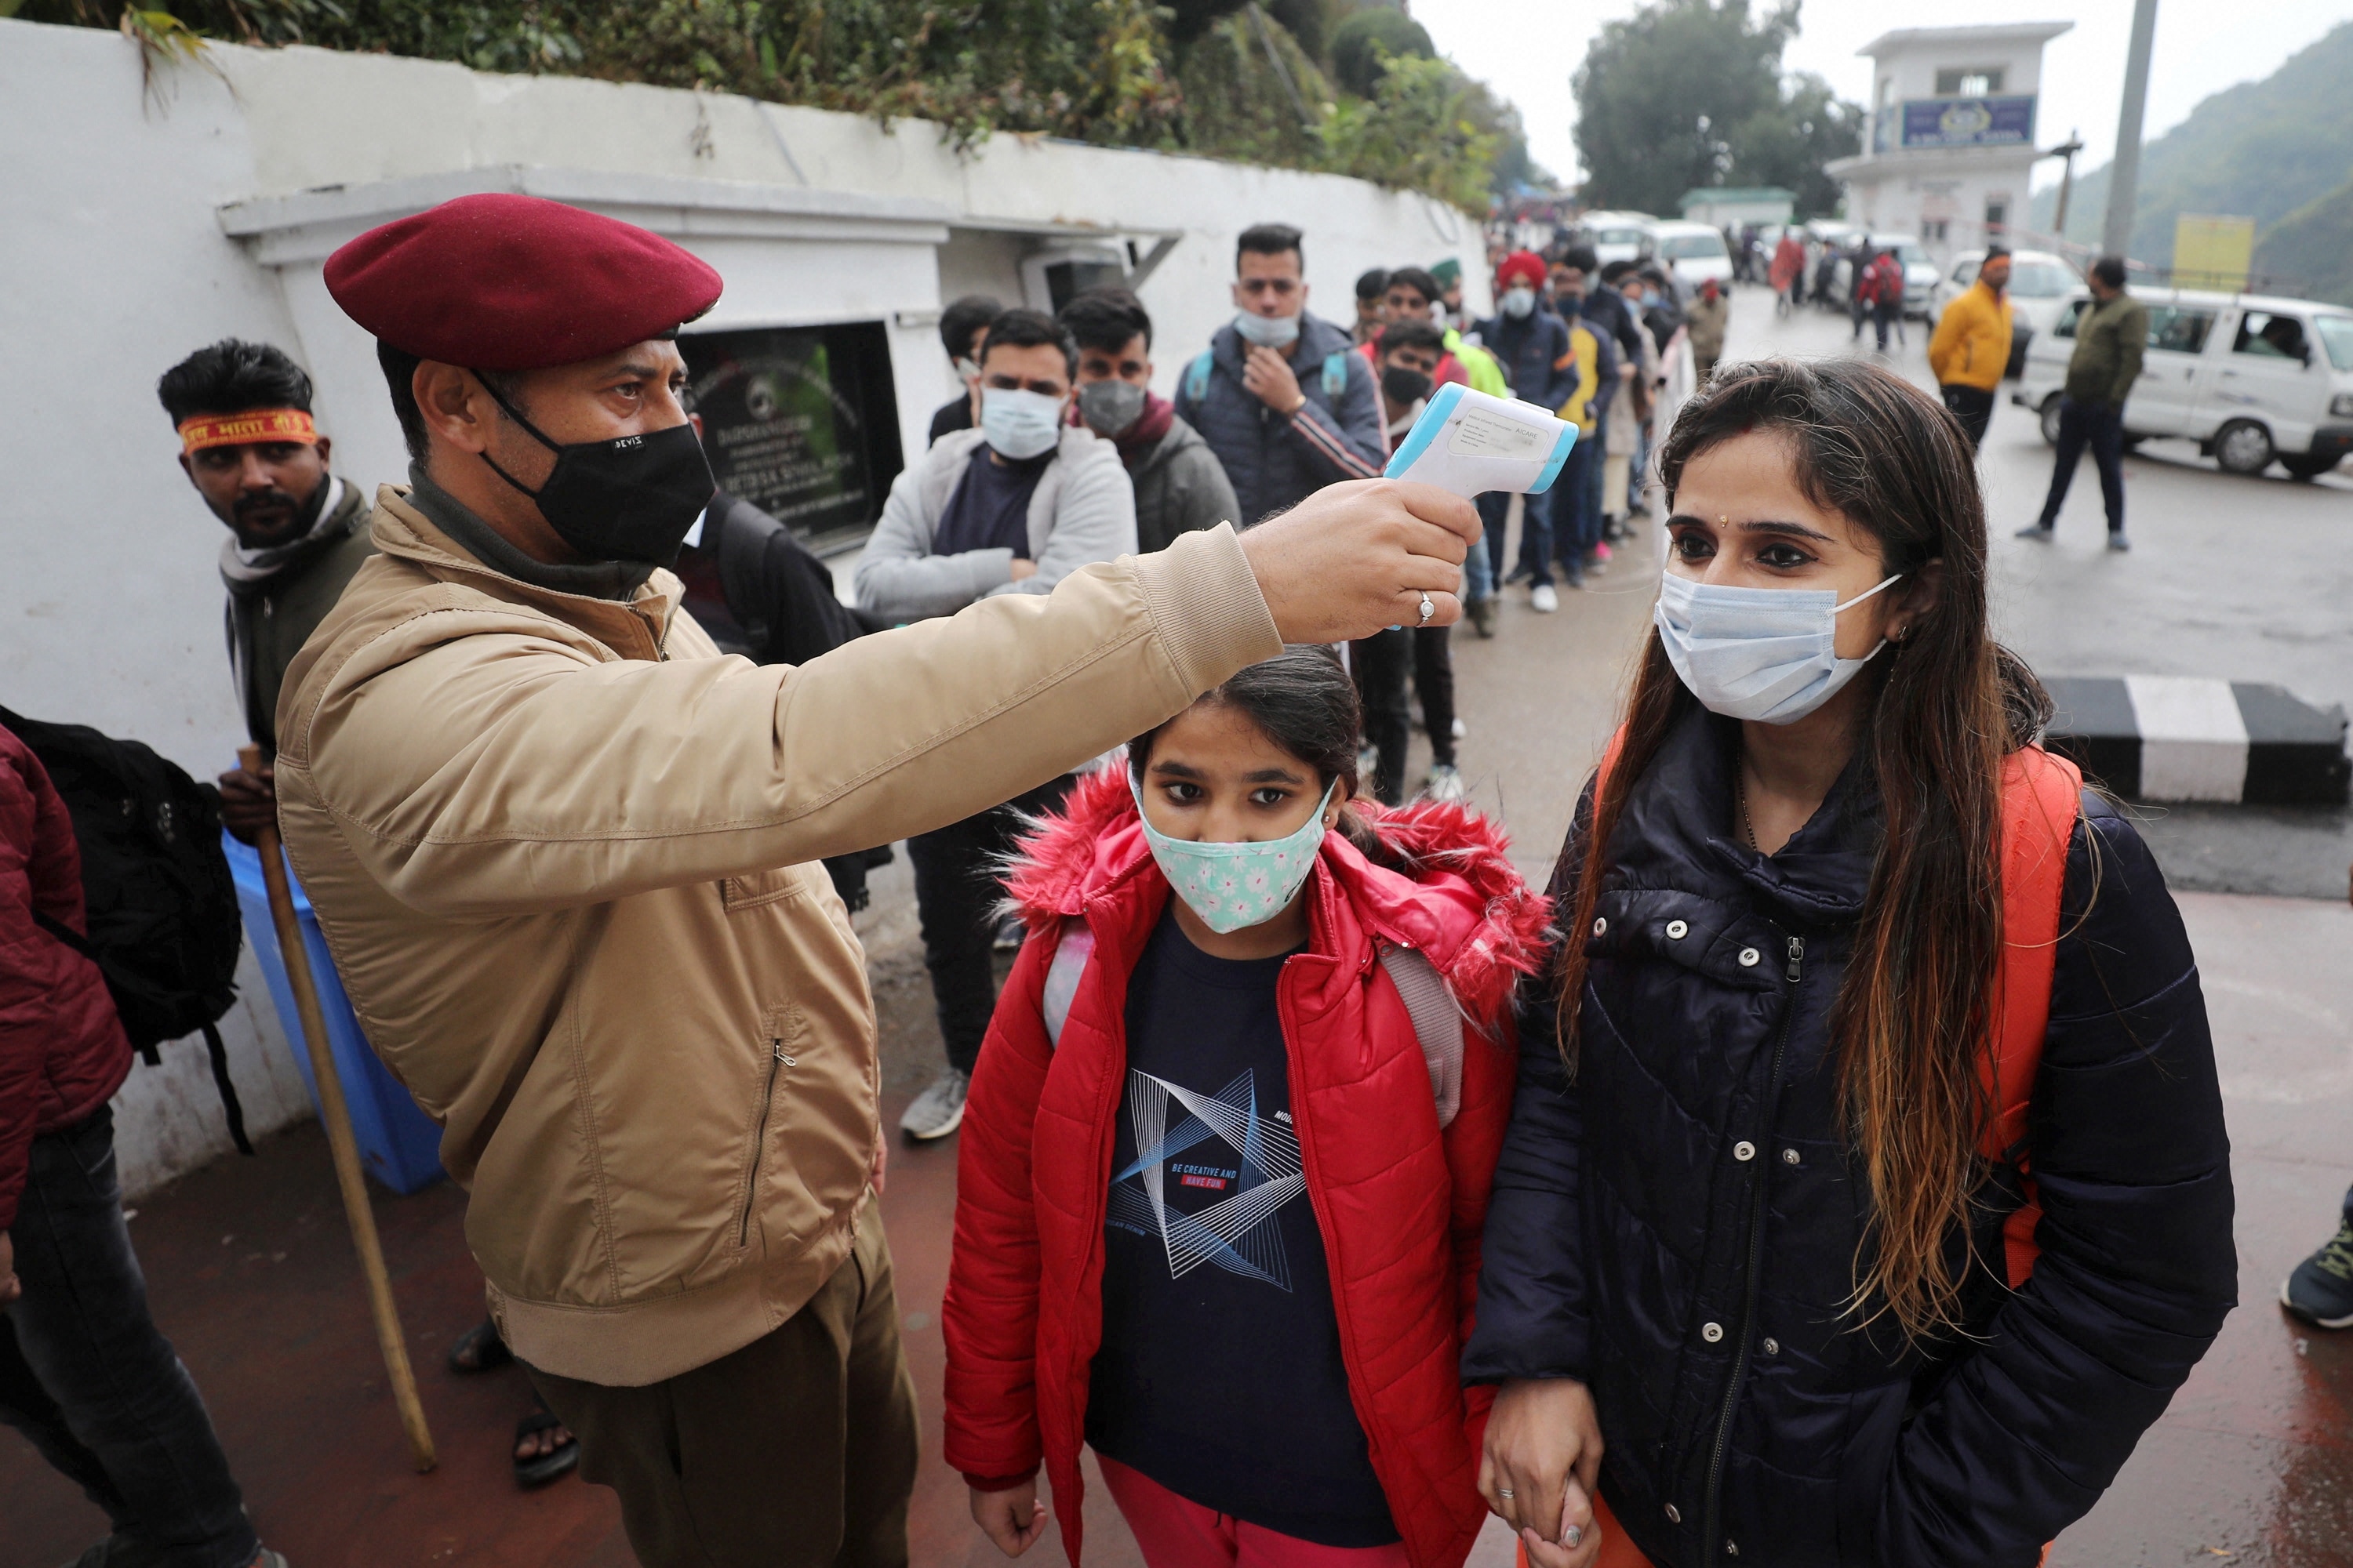
[[[2158,40],[2162,47],[2162,35]],[[2268,287],[2353,303],[2353,24],[2299,49],[2261,82],[2202,101],[2141,150],[2132,254],[2172,266],[2184,212],[2252,216]],[[2099,242],[2108,169],[2075,181],[2071,240]],[[2035,197],[2047,228],[2054,193]],[[2261,287],[2261,284],[2259,284]]]

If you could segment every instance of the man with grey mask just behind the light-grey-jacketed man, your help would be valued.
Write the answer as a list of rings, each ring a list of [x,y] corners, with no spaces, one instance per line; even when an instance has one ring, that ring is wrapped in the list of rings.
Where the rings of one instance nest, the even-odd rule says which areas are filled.
[[[1136,487],[1136,548],[1240,522],[1226,465],[1176,407],[1151,390],[1153,317],[1120,287],[1087,289],[1061,308],[1078,341],[1078,416],[1108,440]]]

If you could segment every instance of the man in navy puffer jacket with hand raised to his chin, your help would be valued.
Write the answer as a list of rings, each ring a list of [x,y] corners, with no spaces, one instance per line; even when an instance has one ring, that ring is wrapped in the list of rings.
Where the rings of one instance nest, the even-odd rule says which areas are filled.
[[[1379,477],[1381,400],[1355,339],[1308,315],[1299,230],[1245,228],[1231,327],[1176,383],[1176,416],[1226,465],[1240,524],[1299,505],[1325,484]]]

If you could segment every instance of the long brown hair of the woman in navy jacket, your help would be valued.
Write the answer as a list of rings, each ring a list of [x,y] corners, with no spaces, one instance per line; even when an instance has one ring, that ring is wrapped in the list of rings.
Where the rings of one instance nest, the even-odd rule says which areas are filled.
[[[1849,1309],[1913,1340],[1951,1331],[1969,1258],[1948,1251],[1986,1178],[1993,1107],[1979,1079],[2002,952],[2002,757],[2049,719],[2033,672],[1986,625],[1986,503],[1967,437],[1941,404],[1857,360],[1732,364],[1692,397],[1659,451],[1668,498],[1685,465],[1739,435],[1788,440],[1795,480],[1880,545],[1880,576],[1944,564],[1934,607],[1864,670],[1875,682],[1857,748],[1871,757],[1882,837],[1831,1041],[1842,1119],[1873,1215]],[[1593,922],[1605,846],[1642,771],[1697,698],[1657,635],[1626,701],[1626,738],[1593,802],[1565,931]],[[1562,945],[1560,1039],[1574,1070],[1584,943]]]

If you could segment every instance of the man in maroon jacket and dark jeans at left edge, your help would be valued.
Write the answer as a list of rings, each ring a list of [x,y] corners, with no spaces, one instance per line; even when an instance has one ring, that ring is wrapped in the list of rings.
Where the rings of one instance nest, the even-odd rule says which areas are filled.
[[[73,820],[0,729],[0,1422],[106,1509],[85,1563],[285,1568],[148,1316],[108,1107],[132,1041],[61,933],[87,933]]]

